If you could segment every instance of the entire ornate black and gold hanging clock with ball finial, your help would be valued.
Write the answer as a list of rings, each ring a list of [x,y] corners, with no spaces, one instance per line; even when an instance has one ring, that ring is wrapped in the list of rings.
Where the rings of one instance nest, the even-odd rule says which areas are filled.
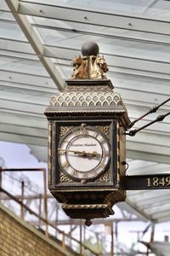
[[[121,97],[105,78],[96,43],[82,46],[65,90],[52,96],[48,118],[48,189],[71,218],[105,218],[124,201],[125,131]]]

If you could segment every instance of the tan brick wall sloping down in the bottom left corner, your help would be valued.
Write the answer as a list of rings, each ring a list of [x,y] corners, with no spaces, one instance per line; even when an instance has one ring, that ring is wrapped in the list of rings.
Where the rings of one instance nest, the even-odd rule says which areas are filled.
[[[71,256],[0,203],[0,256]]]

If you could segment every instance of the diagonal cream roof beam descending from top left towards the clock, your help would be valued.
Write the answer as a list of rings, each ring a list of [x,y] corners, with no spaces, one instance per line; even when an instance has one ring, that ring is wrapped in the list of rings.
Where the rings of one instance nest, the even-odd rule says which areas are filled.
[[[37,32],[35,32],[34,28],[31,26],[26,15],[20,15],[17,12],[20,4],[19,0],[5,0],[5,1],[8,4],[8,8],[11,10],[12,14],[14,15],[15,20],[18,22],[18,24],[20,25],[20,28],[25,33],[26,38],[30,42],[32,48],[35,50],[40,61],[42,61],[42,65],[48,71],[51,79],[54,80],[54,83],[59,88],[59,90],[63,90],[65,88],[65,80],[63,79],[57,67],[54,65],[54,62],[43,55],[44,47],[43,47],[41,38],[37,36]]]

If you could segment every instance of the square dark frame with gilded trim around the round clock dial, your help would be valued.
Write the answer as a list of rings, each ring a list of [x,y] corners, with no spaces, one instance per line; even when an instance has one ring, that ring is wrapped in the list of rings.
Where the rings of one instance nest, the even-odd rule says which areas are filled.
[[[109,163],[109,166],[107,168],[107,171],[109,172],[109,180],[105,182],[100,182],[98,179],[103,175],[102,172],[100,173],[99,177],[94,177],[93,179],[89,179],[86,183],[81,183],[80,180],[71,180],[64,182],[60,182],[59,175],[60,175],[60,166],[59,166],[59,160],[58,160],[58,154],[57,154],[57,148],[59,148],[59,139],[60,139],[60,128],[62,126],[65,127],[76,127],[80,126],[82,123],[86,123],[88,126],[109,126],[109,133],[110,138],[108,138],[108,141],[110,143],[111,147],[111,160]],[[105,134],[104,134],[105,135]],[[102,119],[102,120],[90,120],[90,119],[79,119],[77,120],[54,120],[53,122],[53,161],[52,161],[52,179],[54,183],[52,184],[52,187],[56,188],[65,188],[65,187],[102,187],[102,186],[108,186],[112,187],[116,183],[116,171],[117,171],[117,158],[116,158],[116,121],[113,119]],[[114,142],[114,143],[113,143]],[[109,171],[108,171],[109,170]]]

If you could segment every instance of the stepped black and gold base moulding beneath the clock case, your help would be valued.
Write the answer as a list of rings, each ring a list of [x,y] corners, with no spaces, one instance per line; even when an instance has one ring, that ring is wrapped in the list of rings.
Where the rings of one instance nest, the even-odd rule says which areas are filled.
[[[71,218],[107,218],[114,214],[112,207],[118,201],[125,201],[126,193],[122,189],[100,191],[80,191],[73,189],[67,192],[56,192],[51,189],[52,195],[62,203],[62,209]]]

